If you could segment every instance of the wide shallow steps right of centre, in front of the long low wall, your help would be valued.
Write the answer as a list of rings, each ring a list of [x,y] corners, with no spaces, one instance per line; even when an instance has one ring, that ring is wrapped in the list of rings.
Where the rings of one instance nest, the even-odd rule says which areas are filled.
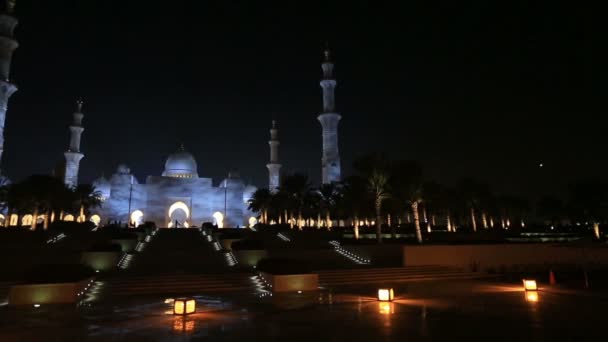
[[[395,284],[415,281],[465,280],[487,278],[487,274],[465,272],[458,268],[438,265],[359,268],[319,271],[319,284],[338,287],[360,284]]]

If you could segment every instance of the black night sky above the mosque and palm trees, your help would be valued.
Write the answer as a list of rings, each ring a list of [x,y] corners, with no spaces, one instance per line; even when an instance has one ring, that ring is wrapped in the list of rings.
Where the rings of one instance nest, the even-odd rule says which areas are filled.
[[[502,2],[500,2],[502,3]],[[574,4],[574,3],[571,3]],[[497,192],[608,178],[606,30],[559,2],[20,1],[3,170],[47,173],[85,99],[81,179],[159,175],[180,142],[199,174],[320,179],[321,51],[334,50],[342,163],[369,151]],[[582,5],[579,5],[582,6]],[[543,163],[544,167],[538,167]]]

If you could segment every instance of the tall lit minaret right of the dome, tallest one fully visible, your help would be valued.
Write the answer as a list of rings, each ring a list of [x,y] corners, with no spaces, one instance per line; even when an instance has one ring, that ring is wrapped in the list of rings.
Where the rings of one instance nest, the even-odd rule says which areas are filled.
[[[334,79],[334,63],[331,61],[329,49],[324,51],[323,79],[321,88],[323,89],[323,113],[318,119],[323,129],[323,158],[322,181],[323,184],[340,181],[340,152],[338,150],[338,123],[342,118],[335,112],[334,89],[336,80]]]

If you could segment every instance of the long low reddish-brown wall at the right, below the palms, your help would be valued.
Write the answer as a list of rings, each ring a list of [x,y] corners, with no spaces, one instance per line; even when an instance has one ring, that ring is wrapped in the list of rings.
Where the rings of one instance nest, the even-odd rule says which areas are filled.
[[[445,265],[470,271],[542,265],[608,265],[608,246],[548,244],[404,246],[403,266]]]

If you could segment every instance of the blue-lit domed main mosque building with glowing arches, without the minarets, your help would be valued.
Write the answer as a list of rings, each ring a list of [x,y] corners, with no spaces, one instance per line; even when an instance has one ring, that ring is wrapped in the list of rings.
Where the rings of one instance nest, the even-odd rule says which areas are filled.
[[[120,165],[112,177],[93,185],[103,204],[96,214],[102,223],[154,222],[158,227],[192,227],[212,222],[218,227],[244,227],[255,214],[247,209],[255,187],[245,186],[231,173],[218,186],[198,175],[192,154],[182,148],[167,158],[161,176],[139,183],[131,170]]]

